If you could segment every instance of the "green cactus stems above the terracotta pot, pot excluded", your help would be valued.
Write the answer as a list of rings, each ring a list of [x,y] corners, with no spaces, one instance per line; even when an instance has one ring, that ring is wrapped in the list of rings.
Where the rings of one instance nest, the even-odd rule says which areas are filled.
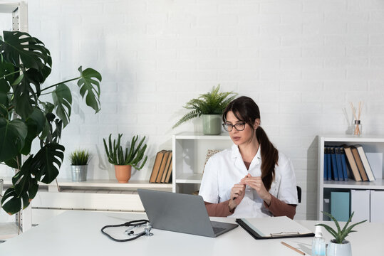
[[[147,156],[145,156],[144,160],[142,161],[142,164],[139,164],[139,162],[144,157],[145,149],[147,149],[147,144],[143,144],[145,137],[141,139],[140,143],[137,144],[137,146],[135,146],[137,139],[139,139],[139,136],[134,136],[132,138],[132,141],[130,142],[130,148],[125,148],[125,150],[123,150],[123,146],[120,145],[121,137],[123,137],[123,134],[118,134],[118,140],[116,141],[116,139],[113,139],[113,143],[111,137],[112,134],[109,135],[108,146],[107,142],[105,142],[105,139],[103,139],[105,153],[108,156],[108,161],[110,162],[110,164],[130,165],[137,170],[142,169],[145,162],[147,161]]]

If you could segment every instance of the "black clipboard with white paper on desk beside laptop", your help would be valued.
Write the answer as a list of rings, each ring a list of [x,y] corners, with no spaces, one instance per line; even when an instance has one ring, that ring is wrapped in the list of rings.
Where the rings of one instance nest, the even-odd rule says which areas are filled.
[[[308,238],[315,234],[286,216],[238,218],[236,222],[255,239]]]

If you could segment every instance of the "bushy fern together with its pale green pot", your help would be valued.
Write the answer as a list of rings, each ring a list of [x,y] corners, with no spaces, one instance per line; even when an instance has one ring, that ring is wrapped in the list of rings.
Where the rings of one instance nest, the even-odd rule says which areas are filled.
[[[212,87],[211,92],[204,93],[187,102],[184,108],[191,111],[177,121],[172,128],[178,127],[190,119],[202,116],[203,133],[220,134],[222,132],[222,114],[229,102],[232,102],[237,96],[237,93],[219,92],[219,90],[220,85],[217,85],[217,87]]]

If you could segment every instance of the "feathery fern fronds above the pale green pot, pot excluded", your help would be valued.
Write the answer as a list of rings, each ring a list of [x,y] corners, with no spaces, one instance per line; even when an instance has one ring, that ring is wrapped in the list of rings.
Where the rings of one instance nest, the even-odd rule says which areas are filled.
[[[232,102],[237,96],[237,93],[219,92],[219,90],[220,85],[217,85],[217,87],[212,87],[211,92],[204,93],[197,99],[187,102],[184,108],[192,111],[185,114],[172,128],[178,127],[183,122],[199,117],[202,114],[222,114],[229,102]]]

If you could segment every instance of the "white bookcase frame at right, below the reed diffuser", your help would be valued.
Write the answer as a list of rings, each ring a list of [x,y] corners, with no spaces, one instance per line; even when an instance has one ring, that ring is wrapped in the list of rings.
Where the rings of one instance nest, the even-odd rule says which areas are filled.
[[[318,137],[318,208],[317,219],[323,220],[324,198],[330,198],[331,191],[349,191],[351,189],[384,190],[384,179],[375,181],[324,181],[324,146],[356,145],[363,146],[367,152],[384,152],[383,136],[362,136],[352,135],[327,135]],[[383,172],[384,170],[382,170]]]

